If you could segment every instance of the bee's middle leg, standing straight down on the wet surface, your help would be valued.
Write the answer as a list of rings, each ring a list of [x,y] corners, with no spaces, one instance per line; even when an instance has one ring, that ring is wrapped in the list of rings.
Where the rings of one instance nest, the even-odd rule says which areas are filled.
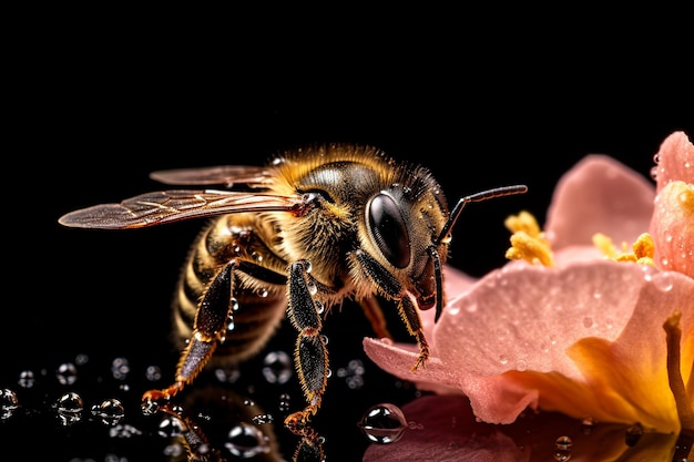
[[[316,280],[308,274],[309,264],[299,260],[289,269],[287,315],[292,325],[298,330],[294,361],[308,403],[303,411],[295,412],[285,419],[285,425],[295,434],[314,439],[316,433],[307,423],[320,407],[323,392],[328,379],[328,351],[320,336],[322,307],[314,300],[318,291]],[[325,286],[320,286],[326,290]]]

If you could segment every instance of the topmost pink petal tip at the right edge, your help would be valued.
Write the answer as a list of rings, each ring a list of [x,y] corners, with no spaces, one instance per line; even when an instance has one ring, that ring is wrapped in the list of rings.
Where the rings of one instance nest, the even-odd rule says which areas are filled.
[[[675,132],[661,144],[656,154],[657,192],[673,181],[694,184],[694,145],[684,132]]]

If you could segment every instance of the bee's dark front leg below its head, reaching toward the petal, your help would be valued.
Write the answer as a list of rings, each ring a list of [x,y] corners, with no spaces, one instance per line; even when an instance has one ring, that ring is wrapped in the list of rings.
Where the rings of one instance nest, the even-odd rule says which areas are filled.
[[[425,337],[421,318],[419,317],[419,311],[417,310],[417,304],[407,291],[402,290],[402,285],[367,253],[357,250],[355,251],[355,257],[359,261],[359,265],[365,269],[366,275],[369,279],[371,279],[374,285],[379,287],[386,297],[389,297],[398,302],[400,317],[405,320],[407,330],[412,337],[415,337],[417,345],[419,346],[419,356],[417,358],[417,362],[412,366],[412,371],[416,371],[422,367],[429,358],[429,343],[427,343],[427,339]]]

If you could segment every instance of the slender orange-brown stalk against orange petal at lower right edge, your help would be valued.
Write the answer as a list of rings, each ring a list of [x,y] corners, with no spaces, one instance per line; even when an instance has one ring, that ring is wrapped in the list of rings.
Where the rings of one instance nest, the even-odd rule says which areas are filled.
[[[663,324],[665,329],[665,338],[667,343],[667,381],[670,389],[675,398],[677,407],[677,417],[682,427],[681,432],[694,434],[694,410],[692,409],[692,399],[688,396],[682,379],[682,370],[680,368],[681,351],[680,342],[682,340],[682,329],[680,329],[680,319],[682,312],[675,311]]]

